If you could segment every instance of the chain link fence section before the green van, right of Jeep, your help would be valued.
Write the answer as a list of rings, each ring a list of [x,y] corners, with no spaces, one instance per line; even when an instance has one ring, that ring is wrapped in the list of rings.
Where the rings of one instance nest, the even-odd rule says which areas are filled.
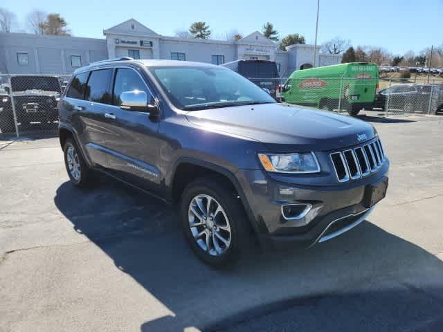
[[[249,78],[275,99],[348,115],[361,110],[383,116],[443,113],[443,77],[427,80],[372,77]]]

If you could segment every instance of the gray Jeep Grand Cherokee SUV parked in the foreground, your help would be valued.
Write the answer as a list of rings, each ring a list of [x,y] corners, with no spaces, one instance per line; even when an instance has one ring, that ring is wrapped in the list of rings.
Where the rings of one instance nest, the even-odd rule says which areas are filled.
[[[336,237],[388,186],[370,124],[276,102],[219,66],[96,62],[75,71],[58,108],[72,183],[100,171],[176,203],[190,247],[213,266],[251,234],[271,248]]]

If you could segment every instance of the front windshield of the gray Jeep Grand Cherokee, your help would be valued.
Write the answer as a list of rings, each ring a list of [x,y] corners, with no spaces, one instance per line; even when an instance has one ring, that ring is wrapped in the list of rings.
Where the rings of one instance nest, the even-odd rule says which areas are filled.
[[[186,111],[276,102],[268,93],[227,68],[150,68],[175,107]]]

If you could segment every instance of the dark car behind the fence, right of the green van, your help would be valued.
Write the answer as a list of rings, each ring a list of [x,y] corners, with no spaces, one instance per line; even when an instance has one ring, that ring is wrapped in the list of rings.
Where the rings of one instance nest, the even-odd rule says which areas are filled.
[[[432,92],[432,98],[431,98]],[[443,109],[442,84],[397,84],[377,92],[374,108],[401,110],[404,113],[428,113],[431,101],[431,113]]]

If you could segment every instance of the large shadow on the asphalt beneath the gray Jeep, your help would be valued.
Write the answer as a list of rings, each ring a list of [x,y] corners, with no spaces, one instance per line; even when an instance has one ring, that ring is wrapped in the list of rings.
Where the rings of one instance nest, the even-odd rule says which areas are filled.
[[[287,301],[333,295],[380,279],[406,283],[417,275],[443,275],[442,261],[369,221],[309,250],[263,252],[253,246],[232,268],[215,270],[192,254],[170,205],[106,176],[98,181],[91,190],[63,183],[55,205],[75,232],[95,243],[118,270],[172,312],[147,315],[141,331],[227,329],[233,322],[282,308]],[[443,299],[441,288],[433,291]],[[339,315],[340,308],[329,311]],[[150,313],[150,308],[145,311]],[[401,312],[398,315],[400,319]]]

